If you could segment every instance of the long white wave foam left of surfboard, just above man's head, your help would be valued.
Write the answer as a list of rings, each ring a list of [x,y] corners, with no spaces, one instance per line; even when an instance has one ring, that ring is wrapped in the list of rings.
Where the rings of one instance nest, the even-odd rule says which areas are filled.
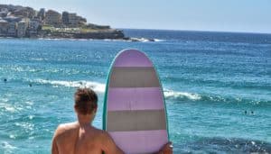
[[[93,89],[95,92],[104,93],[105,92],[105,84],[101,84],[98,82],[92,81],[63,81],[63,80],[46,80],[46,79],[35,79],[33,82],[37,82],[39,84],[49,84],[52,86],[67,86],[67,87],[89,87]]]

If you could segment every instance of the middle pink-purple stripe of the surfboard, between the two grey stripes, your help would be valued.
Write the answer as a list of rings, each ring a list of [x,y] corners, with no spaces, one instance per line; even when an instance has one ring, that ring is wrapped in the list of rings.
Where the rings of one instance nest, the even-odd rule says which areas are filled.
[[[107,111],[164,109],[160,87],[110,87]]]

